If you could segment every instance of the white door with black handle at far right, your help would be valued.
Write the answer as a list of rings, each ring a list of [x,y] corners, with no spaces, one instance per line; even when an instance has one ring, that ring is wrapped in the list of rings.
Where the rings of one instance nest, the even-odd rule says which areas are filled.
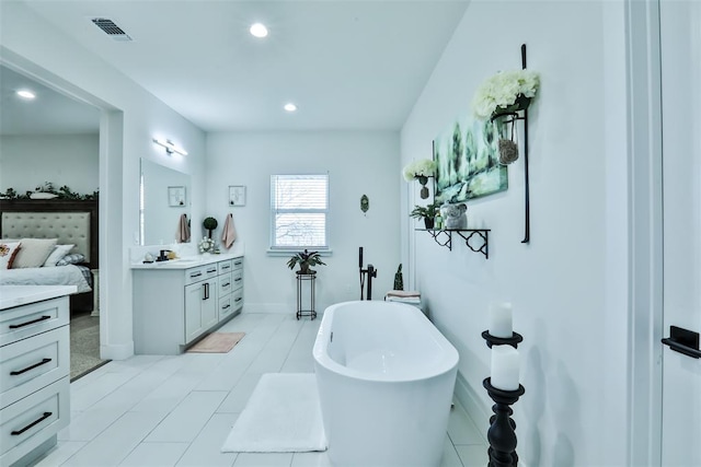
[[[701,332],[701,2],[660,1],[664,332]],[[693,352],[692,352],[693,353]],[[701,359],[663,353],[663,466],[701,466]]]

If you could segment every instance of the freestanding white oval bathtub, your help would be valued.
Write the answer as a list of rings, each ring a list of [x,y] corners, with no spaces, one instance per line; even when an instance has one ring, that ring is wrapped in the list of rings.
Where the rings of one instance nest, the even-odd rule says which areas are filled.
[[[458,352],[416,307],[344,302],[324,311],[313,349],[334,466],[437,466]]]

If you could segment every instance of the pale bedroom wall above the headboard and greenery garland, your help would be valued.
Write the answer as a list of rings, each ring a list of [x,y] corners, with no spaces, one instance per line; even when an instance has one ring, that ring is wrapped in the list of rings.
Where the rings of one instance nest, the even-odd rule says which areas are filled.
[[[89,195],[100,187],[100,135],[1,136],[0,165],[2,192],[34,191],[51,182],[56,189],[67,185]]]

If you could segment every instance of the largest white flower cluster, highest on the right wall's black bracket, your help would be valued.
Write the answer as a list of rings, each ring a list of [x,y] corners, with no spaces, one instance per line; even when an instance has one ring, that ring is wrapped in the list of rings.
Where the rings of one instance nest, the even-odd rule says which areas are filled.
[[[522,110],[538,92],[540,75],[530,70],[501,71],[480,84],[472,100],[478,118],[486,119],[497,110]],[[522,96],[526,100],[517,103]]]

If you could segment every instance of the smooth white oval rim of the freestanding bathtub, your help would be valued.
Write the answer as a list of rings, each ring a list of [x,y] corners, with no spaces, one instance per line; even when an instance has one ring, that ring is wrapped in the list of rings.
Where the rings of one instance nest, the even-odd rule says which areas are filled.
[[[314,363],[324,367],[325,370],[341,374],[346,377],[350,377],[353,380],[366,381],[366,382],[382,382],[382,383],[410,383],[410,382],[418,382],[430,380],[434,377],[438,377],[450,373],[452,371],[457,371],[458,362],[460,360],[460,355],[458,350],[455,348],[452,343],[438,330],[438,328],[424,315],[424,313],[406,303],[401,302],[380,302],[380,301],[370,301],[375,305],[380,306],[391,306],[391,307],[404,307],[406,312],[413,314],[415,317],[412,319],[425,319],[425,324],[423,326],[426,327],[429,336],[439,345],[443,350],[443,357],[435,364],[435,369],[430,369],[428,372],[423,372],[421,374],[411,375],[411,376],[402,376],[398,377],[397,375],[387,375],[383,373],[367,373],[359,370],[348,369],[345,365],[333,360],[329,353],[325,351],[327,348],[330,336],[329,331],[324,327],[324,320],[326,316],[329,319],[333,320],[333,315],[336,308],[343,307],[344,305],[353,305],[353,304],[363,304],[368,303],[368,301],[355,300],[347,302],[334,303],[333,305],[327,306],[324,310],[323,316],[321,318],[321,325],[319,326],[319,331],[317,332],[317,338],[314,340],[314,347],[312,349],[312,354],[314,358]]]

